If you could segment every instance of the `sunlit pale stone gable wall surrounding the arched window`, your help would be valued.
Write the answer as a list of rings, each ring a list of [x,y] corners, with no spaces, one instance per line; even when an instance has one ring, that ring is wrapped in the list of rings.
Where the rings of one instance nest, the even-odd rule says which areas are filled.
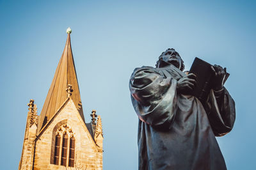
[[[54,156],[52,154],[52,148],[54,148],[52,139],[55,135],[52,133],[63,123],[67,123],[72,128],[76,138],[75,167],[67,167],[67,169],[102,169],[102,152],[98,152],[97,146],[72,100],[68,101],[36,141],[35,169],[66,169],[65,166],[50,164],[51,158]]]

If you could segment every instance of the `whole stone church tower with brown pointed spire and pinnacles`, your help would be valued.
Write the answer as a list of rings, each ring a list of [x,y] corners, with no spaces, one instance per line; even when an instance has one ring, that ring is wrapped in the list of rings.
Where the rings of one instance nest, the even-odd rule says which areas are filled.
[[[102,169],[103,132],[85,123],[70,43],[71,29],[40,116],[30,100],[19,169]],[[96,121],[97,118],[97,121]]]

